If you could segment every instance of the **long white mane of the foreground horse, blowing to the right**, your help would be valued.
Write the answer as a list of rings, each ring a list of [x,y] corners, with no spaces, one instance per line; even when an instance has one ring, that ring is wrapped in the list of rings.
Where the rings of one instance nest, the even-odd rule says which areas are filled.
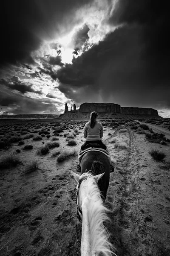
[[[87,197],[82,201],[88,209],[88,221],[90,227],[90,244],[91,255],[112,256],[115,249],[109,241],[109,234],[103,225],[103,221],[108,221],[109,218],[106,212],[109,211],[102,202],[99,188],[94,176],[86,173],[87,180],[82,182],[81,186],[86,190]]]

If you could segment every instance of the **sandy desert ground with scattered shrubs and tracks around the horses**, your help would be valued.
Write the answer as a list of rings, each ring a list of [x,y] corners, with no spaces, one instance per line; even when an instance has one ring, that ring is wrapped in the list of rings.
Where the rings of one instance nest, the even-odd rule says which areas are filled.
[[[80,256],[70,171],[87,121],[0,120],[0,255]],[[105,225],[116,254],[170,256],[170,119],[99,122],[115,169]]]

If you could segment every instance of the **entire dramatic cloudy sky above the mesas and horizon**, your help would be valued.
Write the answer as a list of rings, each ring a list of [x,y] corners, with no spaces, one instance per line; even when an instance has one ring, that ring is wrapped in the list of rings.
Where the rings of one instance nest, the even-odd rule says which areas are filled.
[[[0,114],[96,102],[170,117],[167,1],[8,0],[0,8]]]

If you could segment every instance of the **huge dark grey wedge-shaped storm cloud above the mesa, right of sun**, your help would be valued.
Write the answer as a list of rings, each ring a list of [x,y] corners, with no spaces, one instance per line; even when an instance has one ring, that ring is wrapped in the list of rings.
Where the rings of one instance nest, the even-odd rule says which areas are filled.
[[[80,103],[93,100],[170,107],[167,63],[155,60],[153,65],[150,55],[144,54],[147,42],[141,38],[143,31],[136,23],[117,28],[53,75],[59,79],[59,90]]]

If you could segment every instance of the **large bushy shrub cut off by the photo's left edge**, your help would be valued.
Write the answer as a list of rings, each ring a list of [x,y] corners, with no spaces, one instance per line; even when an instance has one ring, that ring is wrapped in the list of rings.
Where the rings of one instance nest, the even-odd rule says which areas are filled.
[[[5,154],[0,159],[0,168],[8,168],[10,166],[16,166],[20,163],[20,156],[14,152]]]

